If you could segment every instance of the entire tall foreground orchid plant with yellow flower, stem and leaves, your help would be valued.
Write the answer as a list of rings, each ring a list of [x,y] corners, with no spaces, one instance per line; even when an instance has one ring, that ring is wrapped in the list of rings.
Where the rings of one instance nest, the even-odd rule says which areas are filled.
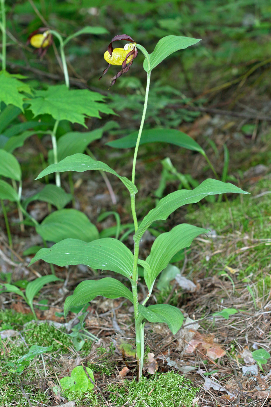
[[[128,41],[128,44],[126,44],[124,48],[113,48],[112,43],[119,40]],[[155,280],[160,272],[168,265],[171,258],[184,247],[189,247],[192,240],[199,236],[199,234],[205,233],[206,229],[197,228],[188,224],[175,226],[170,232],[162,233],[155,239],[151,252],[146,260],[139,258],[139,245],[143,234],[153,222],[167,219],[172,212],[182,205],[199,202],[202,198],[210,195],[227,192],[245,193],[232,184],[226,184],[215,179],[207,179],[194,190],[178,190],[167,195],[160,199],[156,208],[152,209],[141,223],[139,223],[137,219],[135,196],[138,190],[135,185],[135,175],[138,148],[142,142],[161,141],[163,136],[163,129],[151,129],[143,132],[151,71],[175,51],[197,44],[197,42],[199,42],[198,39],[169,35],[160,39],[153,53],[149,54],[142,45],[137,44],[128,35],[116,35],[111,40],[105,52],[105,60],[108,62],[108,67],[104,70],[103,74],[107,72],[111,65],[121,66],[121,70],[111,79],[111,85],[116,82],[118,77],[129,70],[133,60],[138,54],[137,49],[139,49],[145,57],[143,67],[147,73],[147,82],[140,129],[138,132],[132,133],[120,141],[120,143],[124,141],[127,142],[128,139],[130,147],[135,146],[131,181],[126,177],[120,176],[116,171],[107,166],[107,164],[80,153],[70,155],[56,164],[51,164],[37,177],[37,179],[39,179],[48,174],[63,171],[106,171],[118,177],[130,193],[131,212],[135,230],[133,236],[133,254],[122,242],[114,238],[98,239],[90,243],[83,242],[79,239],[64,239],[53,245],[50,249],[44,248],[37,252],[35,257],[31,260],[31,264],[39,259],[60,266],[85,264],[94,269],[114,271],[127,278],[127,281],[131,284],[132,291],[130,291],[125,284],[111,277],[105,277],[97,281],[87,280],[81,282],[78,287],[76,287],[73,295],[66,299],[64,313],[67,315],[73,306],[83,305],[91,301],[97,295],[103,295],[106,298],[127,298],[134,307],[138,380],[142,376],[144,358],[144,320],[149,322],[165,322],[173,333],[179,330],[183,322],[181,311],[174,306],[168,304],[145,306],[150,298]],[[166,135],[166,141],[170,142],[170,140],[172,140],[173,144],[201,152],[205,155],[199,144],[181,131],[166,129],[166,131],[164,131],[164,137],[166,137]],[[149,290],[141,304],[138,302],[138,265],[144,269],[144,280]]]

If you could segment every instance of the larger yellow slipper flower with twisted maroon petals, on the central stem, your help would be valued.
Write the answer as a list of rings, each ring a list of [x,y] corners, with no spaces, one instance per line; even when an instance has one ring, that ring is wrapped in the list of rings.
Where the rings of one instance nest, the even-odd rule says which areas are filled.
[[[112,42],[122,39],[130,41],[132,44],[125,44],[123,48],[113,48]],[[104,54],[104,59],[108,62],[108,66],[103,71],[103,75],[108,71],[108,68],[111,65],[122,66],[122,69],[113,78],[111,78],[111,86],[114,85],[116,79],[118,79],[122,74],[130,69],[133,63],[133,59],[136,58],[137,55],[138,50],[136,49],[136,42],[134,42],[133,38],[129,37],[129,35],[116,35],[114,38],[111,39],[111,42],[107,47],[107,51]],[[103,77],[103,75],[101,76],[101,78]],[[99,80],[101,78],[99,78]]]

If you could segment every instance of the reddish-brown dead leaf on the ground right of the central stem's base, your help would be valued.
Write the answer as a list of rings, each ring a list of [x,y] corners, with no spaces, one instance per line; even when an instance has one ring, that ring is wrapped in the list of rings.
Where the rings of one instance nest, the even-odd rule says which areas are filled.
[[[206,353],[206,356],[210,357],[210,359],[217,359],[224,356],[226,353],[221,346],[214,343],[214,335],[203,335],[199,332],[197,332],[195,337],[188,342],[185,352],[192,353],[197,348],[202,353]]]

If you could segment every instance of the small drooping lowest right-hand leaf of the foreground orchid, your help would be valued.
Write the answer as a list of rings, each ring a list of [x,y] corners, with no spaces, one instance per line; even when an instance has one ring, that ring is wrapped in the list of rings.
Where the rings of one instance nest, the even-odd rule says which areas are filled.
[[[184,321],[184,315],[179,308],[169,304],[155,304],[145,307],[138,305],[139,313],[149,322],[164,322],[173,335],[178,332]]]

